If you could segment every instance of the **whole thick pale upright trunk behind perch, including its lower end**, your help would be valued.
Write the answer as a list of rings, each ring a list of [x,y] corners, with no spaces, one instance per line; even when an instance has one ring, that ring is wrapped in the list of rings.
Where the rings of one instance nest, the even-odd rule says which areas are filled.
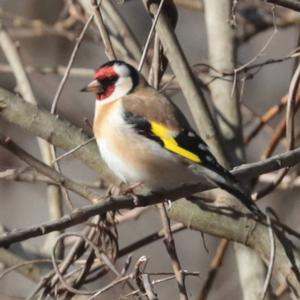
[[[216,75],[214,70],[221,73],[234,73],[236,60],[236,43],[234,26],[230,24],[232,12],[231,0],[204,0],[205,22],[209,47],[209,62],[212,66],[211,75]],[[232,16],[233,17],[233,16]],[[239,97],[236,93],[236,82],[216,79],[210,83],[209,89],[216,109],[216,118],[222,137],[225,142],[227,159],[223,159],[226,167],[245,161],[243,144],[243,126]],[[265,268],[261,259],[247,247],[234,244],[239,279],[244,300],[256,300],[264,284]],[[249,268],[245,261],[253,261]],[[256,277],[262,279],[260,288],[257,280],[248,280]]]

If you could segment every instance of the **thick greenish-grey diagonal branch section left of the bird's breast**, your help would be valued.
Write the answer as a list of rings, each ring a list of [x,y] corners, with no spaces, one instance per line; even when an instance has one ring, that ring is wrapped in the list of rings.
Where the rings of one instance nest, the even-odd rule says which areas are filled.
[[[0,117],[64,150],[71,150],[89,139],[81,128],[40,110],[37,106],[26,103],[20,97],[1,88]],[[117,181],[101,160],[95,142],[88,143],[73,155],[108,181]]]

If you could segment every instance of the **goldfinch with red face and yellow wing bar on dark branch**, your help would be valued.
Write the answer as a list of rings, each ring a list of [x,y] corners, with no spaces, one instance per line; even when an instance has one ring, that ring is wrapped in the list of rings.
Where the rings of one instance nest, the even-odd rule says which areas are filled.
[[[219,187],[253,214],[262,214],[181,110],[135,67],[109,61],[81,91],[96,95],[94,136],[102,159],[122,182],[151,192],[194,184]]]

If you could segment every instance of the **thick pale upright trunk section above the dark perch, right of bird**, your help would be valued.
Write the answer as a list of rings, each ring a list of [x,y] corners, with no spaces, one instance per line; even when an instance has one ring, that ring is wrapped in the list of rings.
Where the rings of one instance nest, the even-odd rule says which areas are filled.
[[[211,73],[232,73],[235,68],[234,30],[229,24],[231,14],[230,0],[205,0],[205,22],[209,47]],[[225,141],[228,158],[235,165],[245,159],[241,112],[236,86],[231,81],[216,79],[209,89],[216,108],[216,118]],[[224,161],[224,159],[223,159]],[[227,162],[228,167],[228,162]]]

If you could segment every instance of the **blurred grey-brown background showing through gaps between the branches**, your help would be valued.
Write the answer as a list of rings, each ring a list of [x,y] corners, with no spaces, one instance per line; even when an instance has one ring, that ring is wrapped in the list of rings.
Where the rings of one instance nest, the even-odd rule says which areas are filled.
[[[33,22],[42,22],[51,27],[59,20],[65,18],[66,2],[62,0],[0,0],[0,24],[5,26],[14,42],[17,43],[25,66],[54,68],[67,65],[75,39],[82,28],[82,23],[76,22],[70,29],[66,30],[69,32],[68,36],[55,31],[39,33],[33,27]],[[113,2],[119,13],[127,21],[140,45],[144,45],[151,26],[151,20],[141,1],[124,0]],[[191,65],[207,63],[208,60],[203,10],[201,9],[200,1],[195,0],[194,2],[199,4],[200,9],[197,7],[189,9],[185,5],[177,5],[178,24],[176,26],[176,34]],[[263,9],[268,11],[269,14],[270,7],[267,4],[263,5],[265,5]],[[21,21],[18,23],[18,18],[21,18],[21,20],[24,18],[29,23],[31,22],[32,26],[24,26]],[[298,16],[298,18],[300,17]],[[274,28],[271,26],[269,29],[261,30],[254,37],[240,43],[237,53],[238,64],[244,64],[255,57],[266,44],[273,30]],[[298,25],[289,25],[285,26],[285,28],[279,26],[270,44],[263,51],[263,55],[257,58],[255,63],[267,59],[285,57],[298,46],[298,42]],[[91,95],[83,95],[79,91],[81,87],[89,82],[92,70],[106,61],[107,58],[101,41],[94,38],[93,30],[89,29],[86,38],[84,38],[80,46],[73,67],[89,69],[90,73],[81,77],[71,75],[68,78],[57,107],[57,113],[62,118],[66,118],[77,126],[83,127],[90,134],[91,129],[87,126],[85,119],[92,122],[94,99]],[[9,91],[16,91],[14,75],[5,69],[7,65],[7,60],[3,52],[0,51],[0,86]],[[255,123],[255,114],[263,114],[272,105],[278,104],[280,99],[287,94],[294,67],[295,60],[292,59],[266,65],[253,78],[246,80],[240,99],[244,103],[242,113],[246,134]],[[51,72],[42,74],[41,72],[32,71],[29,73],[29,77],[34,94],[38,99],[38,106],[49,110],[62,76],[51,74]],[[177,93],[172,99],[191,120],[190,112],[182,94]],[[281,115],[276,117],[249,143],[247,147],[248,162],[261,158],[267,142],[270,140],[272,130],[280,119]],[[3,129],[22,148],[35,157],[40,158],[39,148],[34,136],[19,127],[5,122],[1,118],[0,126],[1,130]],[[276,151],[281,152],[284,149],[285,143],[283,141],[276,148]],[[58,149],[58,154],[61,153],[63,151]],[[95,172],[88,169],[78,160],[66,158],[61,161],[60,165],[63,174],[73,179],[95,181],[99,178]],[[25,166],[25,164],[8,153],[8,151],[0,148],[0,171],[20,166]],[[74,194],[71,194],[71,197],[76,206],[87,204],[85,200]],[[261,200],[260,205],[263,207],[272,203],[272,207],[276,210],[281,220],[286,221],[292,228],[299,230],[300,203],[298,198],[299,190],[297,187],[283,191],[279,189]],[[68,211],[67,208],[66,211]],[[48,219],[49,209],[46,184],[15,182],[0,178],[0,224],[2,226],[14,229],[45,222]],[[79,228],[81,227],[73,227],[71,231],[79,230]],[[124,222],[119,226],[119,246],[123,248],[131,242],[160,229],[159,215],[155,208],[150,208],[136,220]],[[190,299],[198,299],[197,297],[206,278],[218,241],[219,239],[217,238],[205,236],[205,243],[208,249],[206,251],[203,238],[199,232],[184,230],[175,235],[182,268],[200,272],[199,277],[187,277],[186,282]],[[32,239],[30,242],[36,249],[43,248],[45,237]],[[133,261],[136,261],[142,255],[146,255],[149,258],[147,265],[149,272],[172,272],[170,259],[162,241],[157,241],[135,251]],[[118,260],[116,264],[120,269],[124,264],[124,259]],[[0,262],[0,271],[3,268],[4,265]],[[90,287],[97,288],[103,282],[108,282],[109,279],[109,276],[106,279],[101,278],[93,282]],[[0,295],[24,297],[34,287],[34,282],[17,272],[11,272],[0,280]],[[155,287],[155,290],[160,295],[159,299],[177,297],[175,281],[159,284]],[[102,296],[101,299],[117,299],[121,294],[122,290],[115,288]],[[209,299],[233,298],[242,299],[242,293],[234,251],[230,246],[223,266],[210,292]]]

